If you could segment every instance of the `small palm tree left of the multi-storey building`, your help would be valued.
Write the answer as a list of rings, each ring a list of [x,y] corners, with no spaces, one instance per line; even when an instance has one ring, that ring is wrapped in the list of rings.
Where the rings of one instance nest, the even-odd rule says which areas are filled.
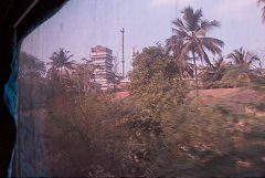
[[[62,71],[64,70],[67,73],[67,70],[73,69],[73,64],[75,61],[71,61],[71,57],[73,57],[73,54],[67,55],[70,51],[65,51],[64,49],[59,49],[59,52],[54,52],[50,60],[52,62],[49,62],[47,65],[52,65],[53,73],[55,73],[59,76],[59,80],[61,82],[62,77]]]

